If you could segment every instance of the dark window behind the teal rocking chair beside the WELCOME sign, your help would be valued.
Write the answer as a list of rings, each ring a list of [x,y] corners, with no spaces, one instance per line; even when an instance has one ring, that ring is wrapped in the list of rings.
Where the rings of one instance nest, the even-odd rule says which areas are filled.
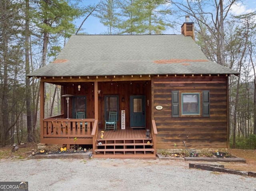
[[[105,96],[105,120],[108,120],[110,111],[116,111],[118,118],[118,109],[118,96]]]

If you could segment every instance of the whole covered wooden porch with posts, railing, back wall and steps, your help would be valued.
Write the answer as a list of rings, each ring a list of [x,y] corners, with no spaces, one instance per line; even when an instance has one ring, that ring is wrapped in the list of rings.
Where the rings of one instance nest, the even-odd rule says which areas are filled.
[[[140,78],[140,80],[138,80]],[[76,78],[68,79],[41,79],[40,81],[40,143],[70,145],[91,145],[93,154],[98,158],[146,158],[156,156],[156,124],[151,118],[151,83],[144,77],[134,77],[134,81],[97,81]],[[96,77],[97,79],[97,77]],[[126,77],[124,77],[126,79]],[[130,77],[129,77],[130,79]],[[148,79],[148,76],[146,77]],[[100,80],[100,79],[99,79]],[[69,82],[73,81],[73,82]],[[45,83],[61,85],[61,95],[72,95],[67,106],[66,97],[61,97],[61,112],[57,116],[44,117],[44,89]],[[77,87],[81,88],[78,90]],[[104,130],[106,120],[106,96],[117,97],[118,122],[117,130]],[[130,124],[130,98],[134,95],[145,97],[145,124],[134,128]],[[77,119],[75,116],[76,97],[85,97],[85,118]],[[110,106],[111,103],[110,103]],[[111,108],[110,108],[111,109]],[[121,110],[125,110],[125,127],[121,129]],[[152,122],[151,122],[152,121]],[[150,139],[146,139],[146,130],[150,130]],[[101,139],[101,131],[104,138]],[[76,141],[74,142],[74,139]],[[101,145],[99,145],[101,143]],[[141,156],[142,155],[142,156]],[[148,158],[148,157],[147,157]]]

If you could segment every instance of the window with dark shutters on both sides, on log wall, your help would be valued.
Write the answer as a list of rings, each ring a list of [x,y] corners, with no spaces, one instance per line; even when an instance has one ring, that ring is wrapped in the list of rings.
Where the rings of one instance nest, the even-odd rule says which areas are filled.
[[[172,91],[172,117],[181,116],[210,117],[210,91]]]

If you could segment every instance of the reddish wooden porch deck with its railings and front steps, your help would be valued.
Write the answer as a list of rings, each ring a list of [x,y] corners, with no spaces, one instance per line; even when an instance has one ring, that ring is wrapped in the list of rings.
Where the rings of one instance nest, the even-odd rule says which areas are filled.
[[[102,136],[103,132],[103,138]],[[156,124],[152,120],[150,137],[146,129],[127,128],[104,130],[98,128],[98,120],[63,119],[42,120],[40,142],[44,144],[92,145],[95,158],[147,158],[156,159]]]

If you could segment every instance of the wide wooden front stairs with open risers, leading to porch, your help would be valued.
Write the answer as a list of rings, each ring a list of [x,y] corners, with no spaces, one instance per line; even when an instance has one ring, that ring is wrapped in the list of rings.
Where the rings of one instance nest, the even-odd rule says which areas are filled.
[[[152,139],[98,139],[94,158],[156,159]]]

